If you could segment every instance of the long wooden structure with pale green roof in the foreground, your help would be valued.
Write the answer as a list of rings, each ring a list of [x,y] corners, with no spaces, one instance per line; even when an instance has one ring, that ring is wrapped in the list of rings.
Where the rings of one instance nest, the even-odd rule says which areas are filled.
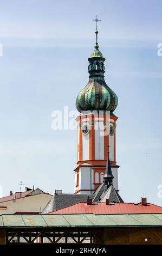
[[[162,214],[2,215],[0,244],[162,245]]]

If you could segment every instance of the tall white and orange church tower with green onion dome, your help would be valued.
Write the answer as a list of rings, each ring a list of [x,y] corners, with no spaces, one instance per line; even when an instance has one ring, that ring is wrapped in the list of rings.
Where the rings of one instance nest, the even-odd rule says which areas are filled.
[[[96,44],[88,58],[88,84],[76,98],[77,118],[77,167],[75,191],[93,194],[103,182],[107,164],[107,152],[114,176],[113,185],[118,191],[118,168],[116,164],[116,120],[114,110],[118,97],[105,82],[105,58],[99,51],[96,17]]]

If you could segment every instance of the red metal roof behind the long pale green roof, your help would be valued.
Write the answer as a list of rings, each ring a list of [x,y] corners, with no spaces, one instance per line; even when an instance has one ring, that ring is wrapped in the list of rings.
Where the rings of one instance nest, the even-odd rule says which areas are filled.
[[[148,203],[147,205],[134,205],[133,203],[115,203],[106,205],[98,203],[87,205],[77,203],[66,208],[49,212],[49,214],[161,214],[162,207]]]

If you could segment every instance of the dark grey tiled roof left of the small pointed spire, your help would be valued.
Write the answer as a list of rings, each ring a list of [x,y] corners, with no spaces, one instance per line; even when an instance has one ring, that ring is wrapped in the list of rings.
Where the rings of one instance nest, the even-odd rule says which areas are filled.
[[[92,198],[89,194],[54,194],[53,198],[48,202],[43,209],[42,214],[48,214],[51,211],[60,210],[64,207],[87,202],[87,198]]]

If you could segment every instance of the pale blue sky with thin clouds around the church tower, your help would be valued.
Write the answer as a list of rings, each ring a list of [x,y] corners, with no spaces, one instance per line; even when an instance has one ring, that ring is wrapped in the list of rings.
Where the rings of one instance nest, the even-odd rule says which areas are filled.
[[[0,1],[0,170],[3,194],[74,191],[76,131],[51,129],[88,82],[95,15],[105,80],[118,95],[116,157],[125,202],[158,198],[161,174],[161,1]]]

